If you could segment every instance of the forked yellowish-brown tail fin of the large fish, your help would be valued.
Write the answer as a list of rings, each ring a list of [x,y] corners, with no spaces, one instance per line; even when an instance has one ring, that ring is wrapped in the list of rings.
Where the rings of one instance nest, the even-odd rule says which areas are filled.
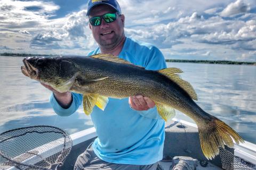
[[[201,148],[207,159],[212,159],[218,155],[219,147],[224,148],[224,144],[233,148],[234,143],[231,137],[237,144],[244,142],[238,133],[216,117],[208,122],[206,127],[200,127],[201,124],[197,125]]]

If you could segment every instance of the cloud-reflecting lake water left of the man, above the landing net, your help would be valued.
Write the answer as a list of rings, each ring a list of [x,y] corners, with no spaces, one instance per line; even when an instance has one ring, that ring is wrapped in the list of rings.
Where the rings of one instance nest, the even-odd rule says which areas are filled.
[[[51,92],[21,73],[22,59],[1,57],[0,133],[23,126],[52,125],[71,134],[93,126],[82,107],[68,117],[56,115],[49,103]]]

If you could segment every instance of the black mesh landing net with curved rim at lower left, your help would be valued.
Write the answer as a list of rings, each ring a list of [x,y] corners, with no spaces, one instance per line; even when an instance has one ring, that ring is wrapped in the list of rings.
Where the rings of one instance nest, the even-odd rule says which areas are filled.
[[[53,126],[29,126],[0,134],[0,169],[52,169],[72,147],[67,132]]]

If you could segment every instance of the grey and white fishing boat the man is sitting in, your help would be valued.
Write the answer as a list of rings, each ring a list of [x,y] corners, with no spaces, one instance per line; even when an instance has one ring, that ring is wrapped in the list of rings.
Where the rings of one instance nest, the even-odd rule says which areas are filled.
[[[87,146],[97,138],[97,134],[94,128],[86,129],[74,134],[69,135],[71,141],[69,145],[72,145],[69,149],[69,154],[63,160],[63,164],[55,165],[52,169],[58,170],[70,170],[73,169],[76,158],[84,152]],[[70,144],[71,142],[71,144]],[[60,145],[50,145],[57,143],[56,141],[51,141],[45,143],[42,146],[39,146],[33,151],[39,152],[41,148],[47,148],[42,153],[41,157],[47,157],[56,155],[61,151]],[[54,147],[52,147],[54,146]],[[1,147],[0,147],[1,150]],[[34,153],[33,152],[33,153]],[[46,154],[47,153],[47,154]],[[24,154],[24,153],[23,153]],[[49,155],[50,154],[50,155]],[[22,154],[21,154],[22,155]],[[220,149],[220,154],[212,160],[207,160],[203,155],[201,150],[199,135],[197,130],[197,125],[190,123],[178,118],[173,118],[170,121],[166,122],[165,126],[165,143],[164,143],[164,153],[163,160],[158,163],[157,169],[159,170],[169,170],[175,165],[173,164],[174,157],[191,157],[196,160],[195,169],[205,169],[205,170],[215,170],[215,169],[256,169],[256,145],[250,142],[245,141],[239,145],[235,144],[234,148],[228,148],[225,146],[225,149]],[[19,157],[19,156],[18,156]],[[34,155],[30,155],[25,159],[20,160],[21,163],[28,163],[33,160]],[[16,157],[15,160],[18,160]],[[33,162],[33,161],[32,161]],[[1,162],[0,159],[0,169],[1,170],[16,170],[19,169],[14,166],[6,166],[6,162]],[[34,161],[38,163],[38,161]],[[4,165],[5,164],[5,165]],[[131,169],[132,170],[132,169]]]

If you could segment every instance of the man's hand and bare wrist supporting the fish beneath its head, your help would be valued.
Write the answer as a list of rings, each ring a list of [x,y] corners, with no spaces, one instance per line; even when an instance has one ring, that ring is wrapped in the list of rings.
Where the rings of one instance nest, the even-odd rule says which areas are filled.
[[[71,92],[58,92],[57,90],[53,89],[51,86],[41,83],[46,89],[49,89],[53,92],[55,99],[58,101],[59,105],[62,108],[68,108],[72,101]]]

